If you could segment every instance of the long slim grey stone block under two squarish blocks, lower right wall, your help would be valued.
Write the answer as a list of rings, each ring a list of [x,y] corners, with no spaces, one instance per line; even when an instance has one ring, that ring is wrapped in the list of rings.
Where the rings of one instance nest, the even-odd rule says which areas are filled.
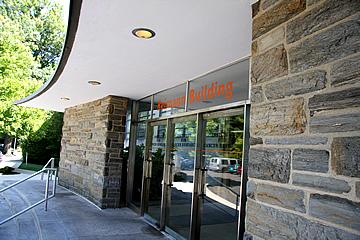
[[[348,193],[351,190],[346,181],[332,177],[294,173],[292,180],[294,185],[315,188],[325,192]]]

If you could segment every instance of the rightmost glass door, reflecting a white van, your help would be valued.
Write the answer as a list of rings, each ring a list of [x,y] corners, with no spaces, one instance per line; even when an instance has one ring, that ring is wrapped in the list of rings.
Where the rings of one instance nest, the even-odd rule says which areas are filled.
[[[200,239],[237,239],[240,212],[243,109],[204,114],[205,166]]]

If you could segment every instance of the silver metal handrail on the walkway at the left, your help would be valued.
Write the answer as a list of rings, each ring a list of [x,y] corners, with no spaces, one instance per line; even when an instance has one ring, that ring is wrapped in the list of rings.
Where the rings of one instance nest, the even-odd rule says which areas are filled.
[[[51,167],[48,168],[47,166],[50,163],[51,163]],[[4,223],[18,217],[18,216],[20,216],[21,214],[33,209],[34,207],[38,206],[39,204],[41,204],[43,202],[45,202],[44,209],[45,209],[45,211],[47,211],[48,200],[55,197],[55,193],[56,193],[57,168],[54,168],[54,158],[51,158],[40,171],[37,171],[36,173],[33,173],[30,176],[28,176],[28,177],[26,177],[24,179],[21,179],[21,180],[15,182],[15,183],[3,188],[3,189],[1,189],[0,193],[4,192],[4,191],[6,191],[6,190],[8,190],[10,188],[13,188],[13,187],[19,185],[20,183],[23,183],[23,182],[25,182],[25,181],[39,175],[39,174],[42,174],[41,179],[43,179],[43,174],[45,172],[47,173],[47,179],[46,179],[46,185],[45,185],[45,197],[43,199],[41,199],[40,201],[32,204],[31,206],[28,206],[27,208],[21,210],[20,212],[15,213],[12,216],[10,216],[10,217],[6,218],[5,220],[1,221],[0,225],[2,225]],[[55,175],[54,180],[52,180],[52,175],[53,174]],[[51,195],[49,195],[49,186],[50,186],[49,183],[50,183],[50,180],[53,181]]]

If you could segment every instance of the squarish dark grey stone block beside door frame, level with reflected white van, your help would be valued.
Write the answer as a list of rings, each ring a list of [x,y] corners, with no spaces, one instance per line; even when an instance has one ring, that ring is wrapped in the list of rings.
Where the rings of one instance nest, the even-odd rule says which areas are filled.
[[[290,177],[289,149],[251,148],[249,177],[287,183]]]

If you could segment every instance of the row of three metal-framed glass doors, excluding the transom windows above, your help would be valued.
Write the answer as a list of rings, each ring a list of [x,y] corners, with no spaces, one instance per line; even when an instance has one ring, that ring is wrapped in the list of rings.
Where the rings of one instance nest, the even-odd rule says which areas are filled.
[[[237,239],[244,108],[149,121],[141,210],[178,239]]]

